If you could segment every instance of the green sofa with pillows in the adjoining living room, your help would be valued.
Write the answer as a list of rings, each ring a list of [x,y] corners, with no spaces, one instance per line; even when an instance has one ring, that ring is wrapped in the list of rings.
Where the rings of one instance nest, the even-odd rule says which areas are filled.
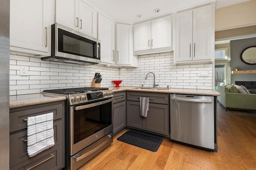
[[[220,102],[226,111],[229,108],[232,109],[246,109],[246,110],[256,110],[256,94],[245,94],[236,91],[236,87],[224,87],[218,86],[218,102]]]

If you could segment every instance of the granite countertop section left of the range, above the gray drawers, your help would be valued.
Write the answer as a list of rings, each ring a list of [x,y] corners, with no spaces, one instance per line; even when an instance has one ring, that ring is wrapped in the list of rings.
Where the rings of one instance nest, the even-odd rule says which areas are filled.
[[[66,100],[66,97],[42,93],[10,96],[10,109],[36,104],[58,102],[62,100]]]

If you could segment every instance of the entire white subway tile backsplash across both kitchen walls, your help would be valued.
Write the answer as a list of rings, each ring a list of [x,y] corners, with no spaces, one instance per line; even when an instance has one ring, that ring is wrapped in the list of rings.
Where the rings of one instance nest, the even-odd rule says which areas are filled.
[[[20,76],[20,66],[29,66],[29,76]],[[173,52],[138,56],[138,68],[113,68],[102,65],[78,65],[40,58],[10,55],[10,95],[40,93],[46,89],[90,86],[95,72],[102,74],[102,87],[115,86],[112,80],[123,80],[121,86],[153,86],[154,72],[159,87],[212,89],[212,64],[173,63]],[[198,77],[198,70],[208,70],[208,77]],[[127,77],[128,73],[131,77]],[[23,89],[26,88],[26,89]],[[16,90],[15,90],[16,89]]]

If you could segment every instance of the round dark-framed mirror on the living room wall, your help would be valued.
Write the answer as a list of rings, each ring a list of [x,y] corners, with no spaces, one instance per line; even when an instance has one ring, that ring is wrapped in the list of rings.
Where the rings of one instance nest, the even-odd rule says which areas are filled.
[[[256,46],[250,46],[245,48],[240,58],[245,64],[256,64]]]

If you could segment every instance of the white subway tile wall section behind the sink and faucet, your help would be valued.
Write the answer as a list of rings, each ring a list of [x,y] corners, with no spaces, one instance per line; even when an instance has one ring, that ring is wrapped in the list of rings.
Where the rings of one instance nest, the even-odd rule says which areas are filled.
[[[148,72],[154,72],[156,83],[160,87],[212,89],[212,64],[176,65],[173,63],[173,53],[158,53],[138,56],[138,68],[120,68],[122,86],[152,87],[154,79]],[[198,70],[208,70],[208,77],[198,77]],[[131,76],[129,76],[131,75]]]

